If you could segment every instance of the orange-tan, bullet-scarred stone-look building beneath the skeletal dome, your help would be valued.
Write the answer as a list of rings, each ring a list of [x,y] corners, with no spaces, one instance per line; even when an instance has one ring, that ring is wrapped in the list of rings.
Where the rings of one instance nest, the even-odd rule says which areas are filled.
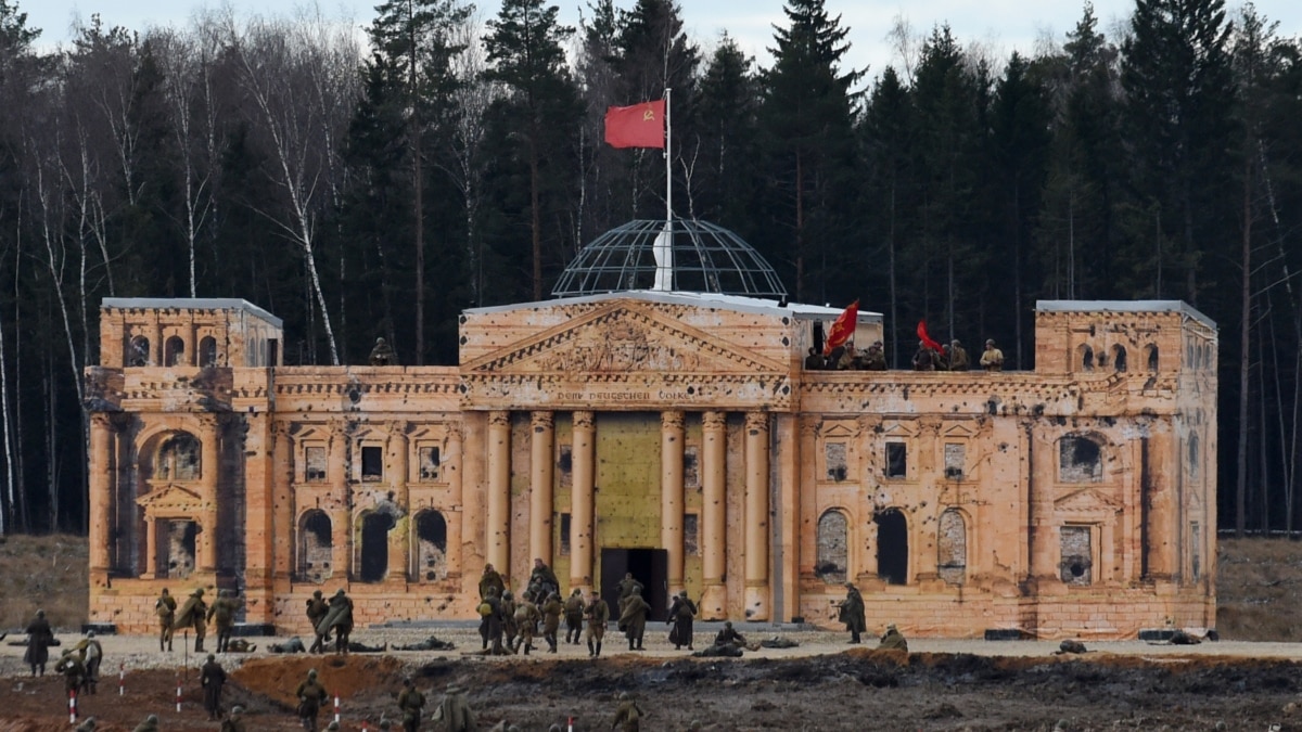
[[[803,370],[836,315],[624,292],[469,310],[460,366],[323,367],[243,301],[107,300],[91,621],[150,630],[164,586],[283,632],[318,589],[470,617],[486,563],[543,557],[707,619],[835,625],[853,581],[918,636],[1213,625],[1213,323],[1042,302],[1034,371]]]

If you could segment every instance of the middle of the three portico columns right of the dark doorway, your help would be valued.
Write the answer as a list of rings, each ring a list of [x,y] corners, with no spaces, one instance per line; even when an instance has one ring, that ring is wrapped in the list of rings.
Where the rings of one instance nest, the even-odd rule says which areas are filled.
[[[700,415],[700,554],[704,594],[700,600],[702,620],[728,617],[728,587],[724,585],[728,556],[728,418],[723,412]]]

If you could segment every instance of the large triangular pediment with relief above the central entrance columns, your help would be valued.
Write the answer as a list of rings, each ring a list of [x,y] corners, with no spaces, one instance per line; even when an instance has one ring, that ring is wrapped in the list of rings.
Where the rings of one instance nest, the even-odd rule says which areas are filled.
[[[786,366],[638,303],[562,323],[465,365],[469,374],[776,374]]]

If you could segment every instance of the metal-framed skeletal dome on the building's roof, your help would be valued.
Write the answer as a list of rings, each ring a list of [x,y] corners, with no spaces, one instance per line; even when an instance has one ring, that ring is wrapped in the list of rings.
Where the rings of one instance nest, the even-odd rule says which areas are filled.
[[[708,221],[673,219],[672,276],[656,288],[656,237],[663,219],[637,219],[592,240],[561,272],[552,297],[669,289],[783,300],[786,288],[763,257],[733,232]]]

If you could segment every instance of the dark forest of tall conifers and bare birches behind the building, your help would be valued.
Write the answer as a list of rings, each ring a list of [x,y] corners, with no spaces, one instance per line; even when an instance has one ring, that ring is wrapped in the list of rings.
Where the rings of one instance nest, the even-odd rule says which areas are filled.
[[[1223,528],[1299,513],[1302,44],[1253,5],[1092,8],[1034,55],[897,22],[894,64],[786,0],[760,65],[673,0],[388,0],[105,27],[47,49],[0,0],[0,533],[81,530],[83,371],[104,297],[240,297],[288,363],[454,363],[457,315],[548,297],[595,236],[664,215],[660,150],[609,106],[672,90],[673,210],[737,232],[790,298],[855,298],[1032,363],[1040,298],[1178,298],[1220,341]],[[883,29],[865,29],[880,36]]]

